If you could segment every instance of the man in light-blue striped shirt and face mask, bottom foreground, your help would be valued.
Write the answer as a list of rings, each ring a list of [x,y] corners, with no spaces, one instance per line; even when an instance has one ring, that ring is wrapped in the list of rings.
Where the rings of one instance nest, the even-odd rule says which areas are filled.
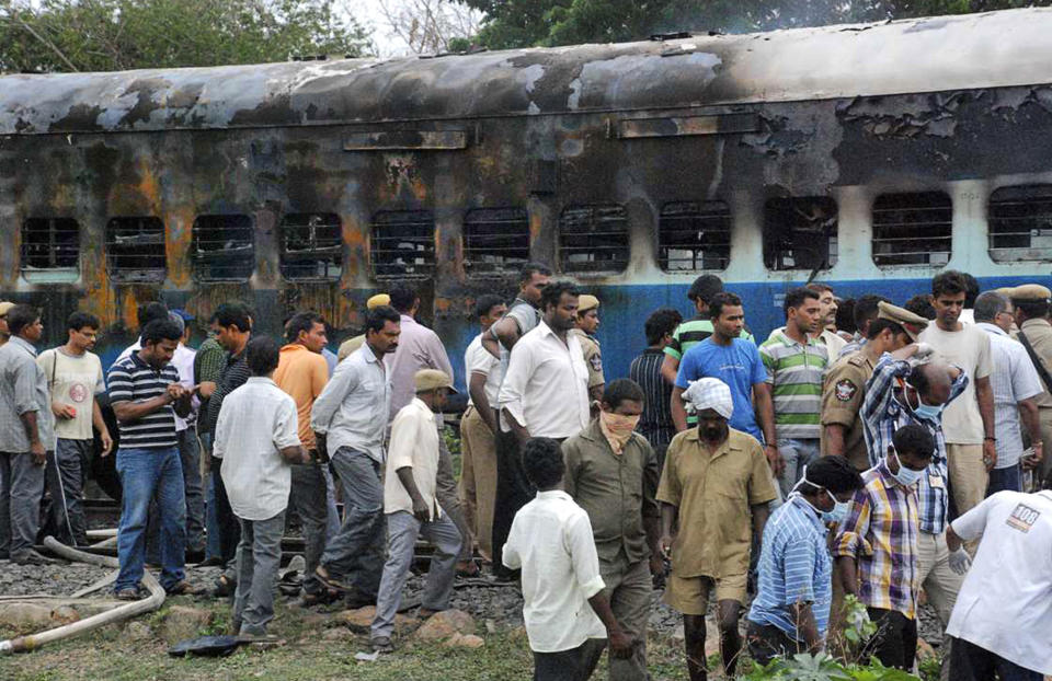
[[[825,523],[842,521],[861,487],[861,476],[846,459],[824,457],[804,468],[767,522],[746,634],[748,651],[761,665],[822,650],[833,597]]]

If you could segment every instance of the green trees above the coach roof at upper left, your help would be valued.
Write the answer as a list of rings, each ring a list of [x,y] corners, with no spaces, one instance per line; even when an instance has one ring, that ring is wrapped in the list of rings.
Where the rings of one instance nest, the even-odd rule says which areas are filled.
[[[0,70],[111,71],[363,55],[338,0],[0,0]]]

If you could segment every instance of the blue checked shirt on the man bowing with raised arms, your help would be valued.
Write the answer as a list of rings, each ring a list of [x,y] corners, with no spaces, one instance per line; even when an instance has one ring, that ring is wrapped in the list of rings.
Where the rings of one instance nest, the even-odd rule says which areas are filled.
[[[959,367],[958,367],[959,368]],[[921,476],[917,485],[921,531],[928,534],[941,534],[946,530],[948,508],[947,482],[949,471],[946,460],[946,439],[942,436],[942,422],[917,416],[908,405],[895,397],[895,385],[910,376],[910,362],[884,354],[866,384],[866,401],[859,416],[862,419],[862,435],[866,437],[866,450],[869,464],[876,466],[888,455],[895,430],[910,424],[928,428],[935,436],[935,455],[928,464],[927,474]],[[968,374],[961,369],[960,376],[950,386],[950,399],[956,400],[968,388]]]

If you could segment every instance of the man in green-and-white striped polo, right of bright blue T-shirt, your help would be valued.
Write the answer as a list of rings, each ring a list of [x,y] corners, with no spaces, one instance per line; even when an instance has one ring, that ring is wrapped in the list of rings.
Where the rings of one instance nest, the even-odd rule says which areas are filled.
[[[822,324],[819,295],[805,288],[786,293],[786,327],[759,346],[775,404],[775,432],[785,465],[778,475],[782,496],[800,472],[819,457],[822,377],[828,350],[812,337]]]

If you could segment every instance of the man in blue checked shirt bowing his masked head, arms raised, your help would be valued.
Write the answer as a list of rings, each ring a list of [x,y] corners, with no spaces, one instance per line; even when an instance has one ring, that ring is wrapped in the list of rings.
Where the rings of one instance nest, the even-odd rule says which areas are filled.
[[[884,355],[866,385],[859,416],[871,465],[888,453],[892,435],[903,426],[922,426],[935,440],[931,463],[917,485],[918,578],[946,626],[963,582],[953,565],[959,566],[967,555],[950,552],[946,544],[949,472],[942,408],[964,392],[969,378],[959,367],[929,361],[931,357],[923,343]]]

